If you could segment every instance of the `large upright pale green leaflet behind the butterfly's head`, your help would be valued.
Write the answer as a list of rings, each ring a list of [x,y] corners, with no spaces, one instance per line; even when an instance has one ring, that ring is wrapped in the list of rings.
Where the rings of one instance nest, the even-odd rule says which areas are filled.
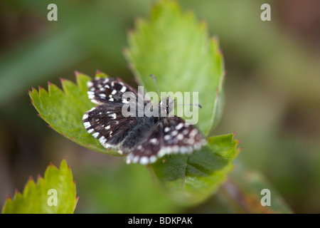
[[[209,38],[206,24],[198,23],[190,11],[181,12],[176,1],[159,1],[149,20],[139,19],[135,27],[124,54],[139,83],[156,91],[149,77],[154,74],[161,91],[198,92],[203,108],[197,125],[208,135],[223,107],[225,71],[218,39]]]

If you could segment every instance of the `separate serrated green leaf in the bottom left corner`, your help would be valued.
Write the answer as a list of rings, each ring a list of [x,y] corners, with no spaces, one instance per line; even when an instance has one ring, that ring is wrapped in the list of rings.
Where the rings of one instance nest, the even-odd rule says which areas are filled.
[[[50,192],[52,191],[52,192]],[[56,206],[53,204],[56,197]],[[16,191],[14,199],[8,197],[4,214],[46,214],[73,213],[78,199],[75,197],[75,182],[67,162],[60,163],[60,169],[49,165],[44,177],[38,176],[35,183],[28,180],[23,193]]]

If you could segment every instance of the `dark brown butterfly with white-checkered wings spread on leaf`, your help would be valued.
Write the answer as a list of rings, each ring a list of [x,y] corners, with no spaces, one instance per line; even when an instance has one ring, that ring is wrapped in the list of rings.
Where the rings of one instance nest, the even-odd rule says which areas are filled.
[[[156,78],[151,77],[156,83]],[[166,154],[190,154],[206,143],[197,128],[188,125],[178,116],[139,116],[139,108],[146,107],[151,100],[137,102],[138,91],[120,78],[97,77],[87,82],[87,88],[88,98],[97,106],[83,115],[85,129],[103,147],[127,155],[128,164],[133,162],[147,165]],[[156,88],[159,93],[157,84]],[[129,97],[124,96],[125,94],[129,94]],[[132,109],[131,114],[135,115],[123,115],[124,105],[132,103],[137,108]],[[159,108],[159,114],[169,114],[173,110],[174,100],[167,97],[156,105],[158,107],[151,107]]]

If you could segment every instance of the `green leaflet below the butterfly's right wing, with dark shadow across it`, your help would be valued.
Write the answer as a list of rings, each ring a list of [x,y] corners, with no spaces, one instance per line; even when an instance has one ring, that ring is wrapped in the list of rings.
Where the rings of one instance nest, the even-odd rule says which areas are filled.
[[[233,134],[208,139],[208,145],[191,155],[166,155],[151,171],[173,199],[183,204],[203,201],[225,181],[238,155]]]

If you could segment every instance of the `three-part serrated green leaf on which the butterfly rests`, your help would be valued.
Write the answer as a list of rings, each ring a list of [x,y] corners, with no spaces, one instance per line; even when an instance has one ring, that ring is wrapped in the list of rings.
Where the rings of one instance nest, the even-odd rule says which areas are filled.
[[[197,127],[208,145],[191,155],[165,155],[148,168],[162,189],[179,204],[203,202],[225,182],[240,151],[233,133],[210,135],[223,110],[225,70],[218,38],[209,38],[206,24],[198,23],[192,12],[182,12],[175,1],[159,1],[148,20],[137,20],[128,41],[124,56],[146,90],[156,90],[149,78],[152,73],[160,90],[199,93],[203,108]],[[90,76],[79,72],[75,75],[76,83],[61,80],[63,90],[52,83],[48,83],[48,91],[32,88],[29,95],[34,107],[53,130],[73,142],[120,156],[117,151],[102,147],[82,125],[82,115],[95,104],[87,98]],[[95,76],[108,77],[100,71]]]

